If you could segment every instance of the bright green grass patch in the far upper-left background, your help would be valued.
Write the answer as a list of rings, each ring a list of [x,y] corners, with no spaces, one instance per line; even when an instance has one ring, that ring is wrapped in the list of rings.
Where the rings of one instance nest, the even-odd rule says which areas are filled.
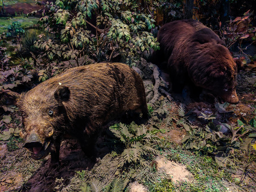
[[[39,18],[33,18],[33,17],[3,17],[0,18],[0,33],[4,33],[8,26],[12,25],[12,22],[19,21],[21,23],[22,28],[27,28],[30,26],[34,26],[37,24],[37,21]]]

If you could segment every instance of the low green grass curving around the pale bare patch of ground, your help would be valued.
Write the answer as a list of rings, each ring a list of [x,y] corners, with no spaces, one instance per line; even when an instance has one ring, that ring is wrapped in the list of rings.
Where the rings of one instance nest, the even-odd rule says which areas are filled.
[[[165,145],[167,146],[167,145]],[[192,182],[177,182],[162,179],[158,183],[152,183],[147,187],[152,192],[158,191],[228,191],[227,185],[223,183],[234,183],[231,174],[221,169],[212,157],[206,155],[195,155],[192,151],[174,146],[171,143],[163,149],[170,161],[183,164],[193,174]],[[238,186],[234,187],[238,188]]]

